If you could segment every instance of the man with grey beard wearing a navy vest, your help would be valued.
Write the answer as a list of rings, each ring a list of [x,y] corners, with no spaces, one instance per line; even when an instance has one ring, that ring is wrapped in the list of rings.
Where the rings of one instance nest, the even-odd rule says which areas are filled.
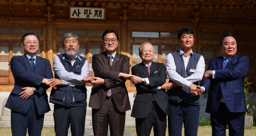
[[[52,88],[50,102],[54,103],[54,130],[56,136],[84,136],[86,116],[86,87],[90,82],[88,60],[78,55],[78,36],[65,34],[62,38],[64,54],[55,55],[53,70],[55,79],[50,79]]]

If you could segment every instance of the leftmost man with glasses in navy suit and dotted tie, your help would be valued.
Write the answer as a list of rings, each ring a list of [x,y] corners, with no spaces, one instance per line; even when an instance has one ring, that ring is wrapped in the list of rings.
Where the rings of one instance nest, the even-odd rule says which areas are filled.
[[[25,54],[11,59],[15,85],[5,107],[11,109],[12,136],[40,136],[44,113],[50,111],[46,90],[53,78],[50,61],[36,55],[39,36],[33,32],[21,38]]]

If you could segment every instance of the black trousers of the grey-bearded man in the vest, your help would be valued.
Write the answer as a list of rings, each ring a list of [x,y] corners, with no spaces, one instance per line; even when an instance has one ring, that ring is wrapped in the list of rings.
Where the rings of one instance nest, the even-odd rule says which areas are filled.
[[[56,136],[68,136],[70,126],[72,136],[84,136],[86,106],[67,107],[54,104],[54,130]]]

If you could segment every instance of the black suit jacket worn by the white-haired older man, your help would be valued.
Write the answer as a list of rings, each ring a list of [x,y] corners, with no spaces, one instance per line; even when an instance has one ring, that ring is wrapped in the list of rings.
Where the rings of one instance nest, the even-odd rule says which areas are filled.
[[[144,63],[139,63],[132,67],[132,75],[142,78],[148,78],[150,85],[135,84],[137,94],[132,107],[132,117],[145,118],[152,106],[153,95],[156,103],[163,112],[169,114],[168,95],[164,89],[157,90],[158,86],[165,83],[166,67],[163,63],[152,62],[150,66],[150,75]],[[152,95],[153,94],[153,95]]]

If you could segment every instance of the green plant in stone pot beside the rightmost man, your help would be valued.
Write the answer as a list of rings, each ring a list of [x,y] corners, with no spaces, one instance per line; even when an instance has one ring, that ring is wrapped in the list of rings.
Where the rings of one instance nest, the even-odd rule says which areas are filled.
[[[248,112],[245,113],[244,129],[251,129],[253,125],[253,111],[252,109],[249,109],[250,104],[248,103],[248,100],[252,95],[252,93],[250,94],[248,93],[252,82],[249,82],[248,79],[249,79],[248,77],[244,79],[244,95],[245,95],[245,101],[246,101],[246,108],[248,110]],[[255,106],[252,106],[252,107],[255,110]]]

